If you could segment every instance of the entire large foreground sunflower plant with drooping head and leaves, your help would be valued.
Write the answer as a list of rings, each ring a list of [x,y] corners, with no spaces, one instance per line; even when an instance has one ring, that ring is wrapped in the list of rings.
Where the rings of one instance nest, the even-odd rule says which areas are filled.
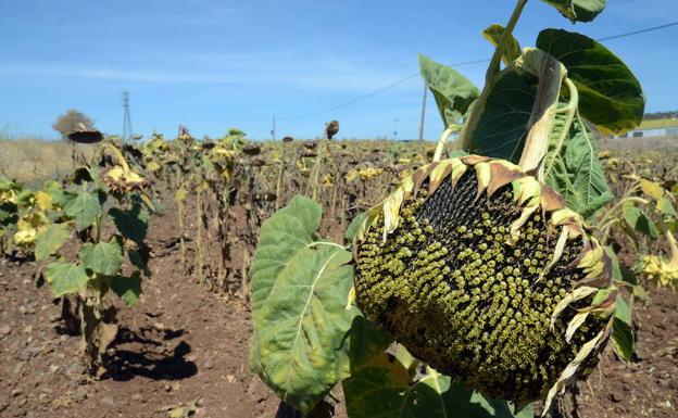
[[[573,23],[605,8],[545,2]],[[355,218],[348,245],[318,237],[322,207],[304,197],[262,226],[250,367],[301,415],[331,408],[339,383],[352,418],[527,417],[535,402],[547,415],[608,341],[630,358],[591,127],[635,128],[643,92],[583,35],[544,29],[520,48],[526,3],[484,30],[481,89],[419,58],[444,125],[434,161]]]

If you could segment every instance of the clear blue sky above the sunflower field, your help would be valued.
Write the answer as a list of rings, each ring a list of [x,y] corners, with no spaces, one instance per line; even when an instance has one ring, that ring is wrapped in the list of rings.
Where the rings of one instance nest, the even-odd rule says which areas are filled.
[[[640,5],[640,9],[639,9]],[[108,134],[123,125],[128,90],[135,132],[201,137],[239,127],[252,138],[415,138],[422,81],[414,77],[350,106],[302,118],[417,71],[417,53],[443,63],[487,59],[479,33],[505,23],[505,0],[22,0],[0,2],[0,130],[55,138],[51,123],[78,109]],[[676,0],[612,0],[591,24],[573,26],[541,1],[516,29],[523,46],[541,28],[591,37],[678,21]],[[635,71],[648,111],[678,109],[678,26],[611,40]],[[460,67],[477,85],[487,64]],[[429,97],[429,99],[431,99]],[[426,137],[442,125],[431,104]],[[397,122],[395,122],[397,119]]]

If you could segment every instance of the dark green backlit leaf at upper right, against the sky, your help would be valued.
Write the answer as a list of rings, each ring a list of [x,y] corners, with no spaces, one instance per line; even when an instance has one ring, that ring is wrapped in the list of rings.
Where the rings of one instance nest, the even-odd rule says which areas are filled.
[[[577,33],[545,29],[537,38],[537,48],[565,65],[579,91],[579,113],[603,134],[640,125],[645,109],[640,83],[602,43]]]

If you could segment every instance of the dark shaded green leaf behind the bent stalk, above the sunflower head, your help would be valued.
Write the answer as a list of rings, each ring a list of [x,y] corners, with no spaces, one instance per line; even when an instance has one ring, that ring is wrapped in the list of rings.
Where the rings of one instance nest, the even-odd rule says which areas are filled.
[[[514,67],[502,71],[490,87],[477,124],[467,127],[468,152],[518,163],[528,134],[537,85]]]

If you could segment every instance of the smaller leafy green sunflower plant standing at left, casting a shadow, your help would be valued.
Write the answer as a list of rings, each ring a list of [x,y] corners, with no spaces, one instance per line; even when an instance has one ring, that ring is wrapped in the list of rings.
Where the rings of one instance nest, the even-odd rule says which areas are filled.
[[[117,334],[109,293],[127,306],[141,294],[149,248],[145,243],[153,205],[148,181],[130,168],[115,141],[103,140],[100,164],[78,167],[54,194],[63,212],[36,238],[36,259],[55,297],[71,297],[89,372],[103,371]],[[64,318],[67,319],[67,318]]]

